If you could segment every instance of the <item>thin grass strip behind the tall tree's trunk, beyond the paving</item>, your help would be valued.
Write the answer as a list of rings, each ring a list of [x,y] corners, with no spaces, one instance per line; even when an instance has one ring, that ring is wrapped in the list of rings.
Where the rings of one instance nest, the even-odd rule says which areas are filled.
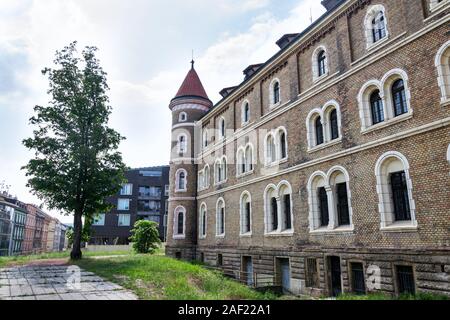
[[[83,252],[83,257],[101,257],[101,256],[115,256],[115,255],[129,255],[129,251],[108,251],[108,252]],[[13,256],[0,257],[0,268],[5,268],[11,265],[24,265],[33,261],[48,260],[48,259],[69,259],[70,251],[43,253],[29,256]]]

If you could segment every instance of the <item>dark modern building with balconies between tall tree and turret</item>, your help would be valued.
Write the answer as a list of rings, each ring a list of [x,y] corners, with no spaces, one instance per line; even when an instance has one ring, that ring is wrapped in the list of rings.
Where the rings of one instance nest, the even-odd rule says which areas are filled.
[[[128,244],[130,231],[138,220],[158,223],[161,239],[165,240],[169,166],[131,169],[125,177],[127,183],[108,199],[113,210],[100,214],[94,222],[91,244]]]

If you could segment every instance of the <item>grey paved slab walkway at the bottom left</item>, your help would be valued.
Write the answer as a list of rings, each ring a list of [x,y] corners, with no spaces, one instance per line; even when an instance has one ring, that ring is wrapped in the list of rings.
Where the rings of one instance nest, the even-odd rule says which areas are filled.
[[[0,300],[137,300],[130,291],[76,266],[0,269]]]

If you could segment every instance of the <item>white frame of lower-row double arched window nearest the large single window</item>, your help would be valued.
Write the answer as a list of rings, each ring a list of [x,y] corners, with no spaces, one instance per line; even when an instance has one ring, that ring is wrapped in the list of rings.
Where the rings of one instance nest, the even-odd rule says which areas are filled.
[[[350,224],[346,226],[339,226],[337,199],[335,190],[335,175],[341,174],[344,177],[347,186],[347,202]],[[322,227],[320,224],[320,208],[319,199],[317,197],[317,190],[324,187],[327,191],[328,198],[328,226]],[[328,173],[322,171],[314,172],[308,180],[308,206],[309,206],[309,232],[353,232],[355,226],[353,224],[353,207],[352,207],[352,193],[350,187],[350,176],[347,170],[342,166],[334,166]]]

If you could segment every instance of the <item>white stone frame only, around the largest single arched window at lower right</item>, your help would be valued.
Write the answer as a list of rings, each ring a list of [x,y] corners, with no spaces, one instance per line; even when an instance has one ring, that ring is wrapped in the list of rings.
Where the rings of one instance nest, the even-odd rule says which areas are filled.
[[[395,221],[392,209],[392,197],[390,195],[389,177],[383,173],[386,162],[392,160],[400,161],[406,176],[406,185],[408,188],[408,200],[411,213],[410,221]],[[388,172],[389,173],[389,172]],[[410,177],[410,166],[406,157],[397,151],[389,151],[383,154],[375,165],[375,176],[377,179],[378,210],[380,213],[381,231],[401,231],[416,230],[418,227],[416,220],[416,204],[413,198],[413,183]]]

